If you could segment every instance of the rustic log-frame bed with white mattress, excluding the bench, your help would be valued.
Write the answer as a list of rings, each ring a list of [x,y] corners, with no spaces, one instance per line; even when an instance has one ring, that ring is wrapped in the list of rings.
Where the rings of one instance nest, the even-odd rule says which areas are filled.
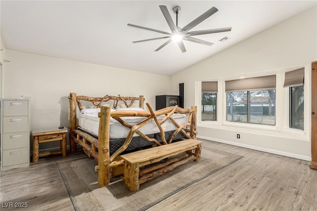
[[[101,187],[123,173],[120,155],[196,138],[196,106],[154,111],[147,103],[149,111],[145,111],[142,95],[89,97],[72,92],[68,98],[70,150],[76,151],[79,144],[98,162],[95,170]]]

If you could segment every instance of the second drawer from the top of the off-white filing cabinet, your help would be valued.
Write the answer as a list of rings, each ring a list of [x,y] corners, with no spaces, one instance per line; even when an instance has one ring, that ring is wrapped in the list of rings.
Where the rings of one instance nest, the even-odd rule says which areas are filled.
[[[28,131],[28,117],[3,117],[3,132]]]

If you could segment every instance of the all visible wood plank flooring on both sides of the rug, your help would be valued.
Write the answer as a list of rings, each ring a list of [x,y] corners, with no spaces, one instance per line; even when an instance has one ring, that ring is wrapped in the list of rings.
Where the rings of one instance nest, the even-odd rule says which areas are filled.
[[[203,146],[244,158],[149,211],[317,211],[317,170],[310,169],[309,162],[212,141],[204,141]],[[39,167],[33,172],[29,168],[1,172],[0,210],[8,210],[4,208],[8,202],[28,202],[37,211],[74,210],[54,165],[56,159],[61,157],[41,158],[32,164]],[[30,177],[37,175],[39,182],[29,184]],[[46,203],[37,204],[39,197],[46,197]]]

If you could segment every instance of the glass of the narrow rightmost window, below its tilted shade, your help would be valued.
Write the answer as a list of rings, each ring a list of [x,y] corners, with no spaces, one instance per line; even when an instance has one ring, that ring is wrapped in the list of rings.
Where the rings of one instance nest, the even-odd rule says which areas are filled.
[[[290,87],[290,127],[304,130],[304,85]]]

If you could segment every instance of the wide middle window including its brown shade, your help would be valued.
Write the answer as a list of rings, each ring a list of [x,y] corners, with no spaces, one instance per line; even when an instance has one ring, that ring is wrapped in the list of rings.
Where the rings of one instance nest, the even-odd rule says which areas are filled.
[[[275,125],[275,75],[225,83],[227,121]]]

